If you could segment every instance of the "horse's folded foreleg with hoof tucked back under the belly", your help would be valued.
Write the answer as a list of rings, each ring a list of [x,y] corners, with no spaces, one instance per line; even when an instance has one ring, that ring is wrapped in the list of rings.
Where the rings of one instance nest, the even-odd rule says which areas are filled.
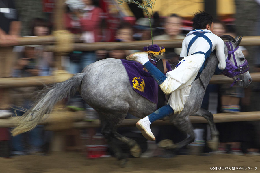
[[[172,140],[162,140],[159,142],[159,146],[165,149],[171,149],[171,150],[179,150],[180,148],[190,144],[194,141],[195,135],[192,127],[192,123],[190,122],[190,119],[183,118],[183,119],[175,119],[174,120],[174,126],[177,127],[180,131],[182,131],[184,134],[188,134],[189,137],[185,140],[182,140],[181,142],[178,142],[174,144]]]

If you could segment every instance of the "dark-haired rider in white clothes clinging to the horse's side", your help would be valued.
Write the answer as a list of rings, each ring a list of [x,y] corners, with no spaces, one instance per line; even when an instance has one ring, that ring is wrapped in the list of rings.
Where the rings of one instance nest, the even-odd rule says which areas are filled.
[[[224,42],[212,33],[212,16],[200,11],[194,14],[192,21],[194,30],[190,31],[182,42],[180,57],[184,58],[166,76],[149,62],[146,52],[136,52],[127,57],[128,60],[141,63],[159,84],[161,90],[165,94],[171,94],[167,105],[136,123],[138,129],[148,140],[155,140],[150,129],[152,122],[173,113],[179,114],[183,110],[190,94],[191,84],[203,70],[205,61],[213,50],[216,50],[219,61],[215,74],[219,74],[226,68]]]

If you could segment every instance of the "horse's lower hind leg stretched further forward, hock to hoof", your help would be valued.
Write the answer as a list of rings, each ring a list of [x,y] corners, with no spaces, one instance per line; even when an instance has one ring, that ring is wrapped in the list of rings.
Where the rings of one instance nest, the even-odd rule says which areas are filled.
[[[142,150],[135,140],[127,138],[117,132],[113,132],[113,135],[116,139],[124,142],[125,144],[127,144],[130,147],[130,152],[131,152],[132,156],[134,156],[134,157],[141,156]]]

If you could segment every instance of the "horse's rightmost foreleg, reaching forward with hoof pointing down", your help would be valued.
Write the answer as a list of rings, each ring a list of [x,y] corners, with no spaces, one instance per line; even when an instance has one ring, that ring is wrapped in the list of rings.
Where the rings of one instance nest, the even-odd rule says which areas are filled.
[[[218,149],[218,130],[216,129],[215,123],[213,121],[213,115],[211,112],[200,108],[194,115],[192,116],[202,116],[204,117],[208,123],[209,123],[209,128],[210,128],[210,136],[211,140],[207,141],[207,146],[211,148],[212,150],[217,150]]]

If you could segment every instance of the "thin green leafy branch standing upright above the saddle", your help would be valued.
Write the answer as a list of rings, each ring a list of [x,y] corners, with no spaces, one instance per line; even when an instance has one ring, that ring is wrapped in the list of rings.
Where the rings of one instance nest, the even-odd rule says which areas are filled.
[[[149,24],[150,24],[150,29],[151,29],[151,38],[152,38],[152,45],[153,45],[153,31],[152,31],[152,24],[151,24],[151,17],[153,15],[153,8],[154,8],[154,2],[152,0],[142,0],[143,3],[140,3],[138,1],[135,0],[117,0],[119,3],[135,3],[138,5],[139,8],[141,8],[145,14],[148,16],[149,18]],[[152,10],[151,14],[149,12],[149,9]]]

